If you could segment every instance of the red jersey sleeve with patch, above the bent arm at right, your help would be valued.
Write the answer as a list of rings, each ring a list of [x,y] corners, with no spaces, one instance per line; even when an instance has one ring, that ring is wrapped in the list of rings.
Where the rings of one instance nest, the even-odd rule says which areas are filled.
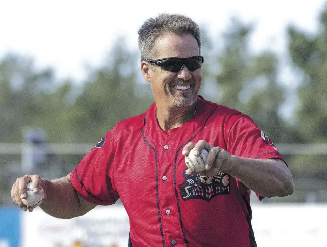
[[[273,142],[249,116],[242,115],[233,122],[227,136],[227,150],[231,155],[252,159],[278,158],[287,165]],[[259,200],[264,198],[258,194],[257,197]]]

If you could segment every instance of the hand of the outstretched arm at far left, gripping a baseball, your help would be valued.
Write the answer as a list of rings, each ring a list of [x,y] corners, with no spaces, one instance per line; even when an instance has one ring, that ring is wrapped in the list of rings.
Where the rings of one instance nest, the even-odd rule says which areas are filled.
[[[16,182],[14,182],[11,189],[11,198],[13,199],[14,203],[17,204],[22,210],[26,211],[28,208],[29,212],[32,212],[34,208],[27,207],[21,200],[27,196],[26,186],[29,182],[33,183],[32,188],[34,192],[38,192],[41,187],[45,191],[44,181],[42,178],[40,178],[39,175],[25,175],[23,177],[17,178]]]

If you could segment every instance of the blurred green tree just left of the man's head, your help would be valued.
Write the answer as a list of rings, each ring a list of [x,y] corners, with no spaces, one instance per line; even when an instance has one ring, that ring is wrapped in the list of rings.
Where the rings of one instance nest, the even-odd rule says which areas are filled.
[[[150,86],[138,80],[138,55],[117,39],[101,68],[90,73],[69,109],[69,129],[76,142],[97,142],[118,121],[141,114],[153,102]]]

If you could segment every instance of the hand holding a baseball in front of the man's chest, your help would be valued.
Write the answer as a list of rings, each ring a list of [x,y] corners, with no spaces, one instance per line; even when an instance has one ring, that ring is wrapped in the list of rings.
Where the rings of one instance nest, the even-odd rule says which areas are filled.
[[[194,148],[198,151],[194,152],[195,156],[201,153],[202,149],[208,151],[208,157],[206,160],[205,170],[201,172],[193,172],[192,170],[186,170],[188,175],[201,175],[201,176],[215,176],[222,172],[227,172],[233,166],[233,157],[224,149],[220,147],[214,147],[204,140],[199,140],[197,143],[189,142],[183,148],[182,154],[184,156],[188,155],[190,150]]]

